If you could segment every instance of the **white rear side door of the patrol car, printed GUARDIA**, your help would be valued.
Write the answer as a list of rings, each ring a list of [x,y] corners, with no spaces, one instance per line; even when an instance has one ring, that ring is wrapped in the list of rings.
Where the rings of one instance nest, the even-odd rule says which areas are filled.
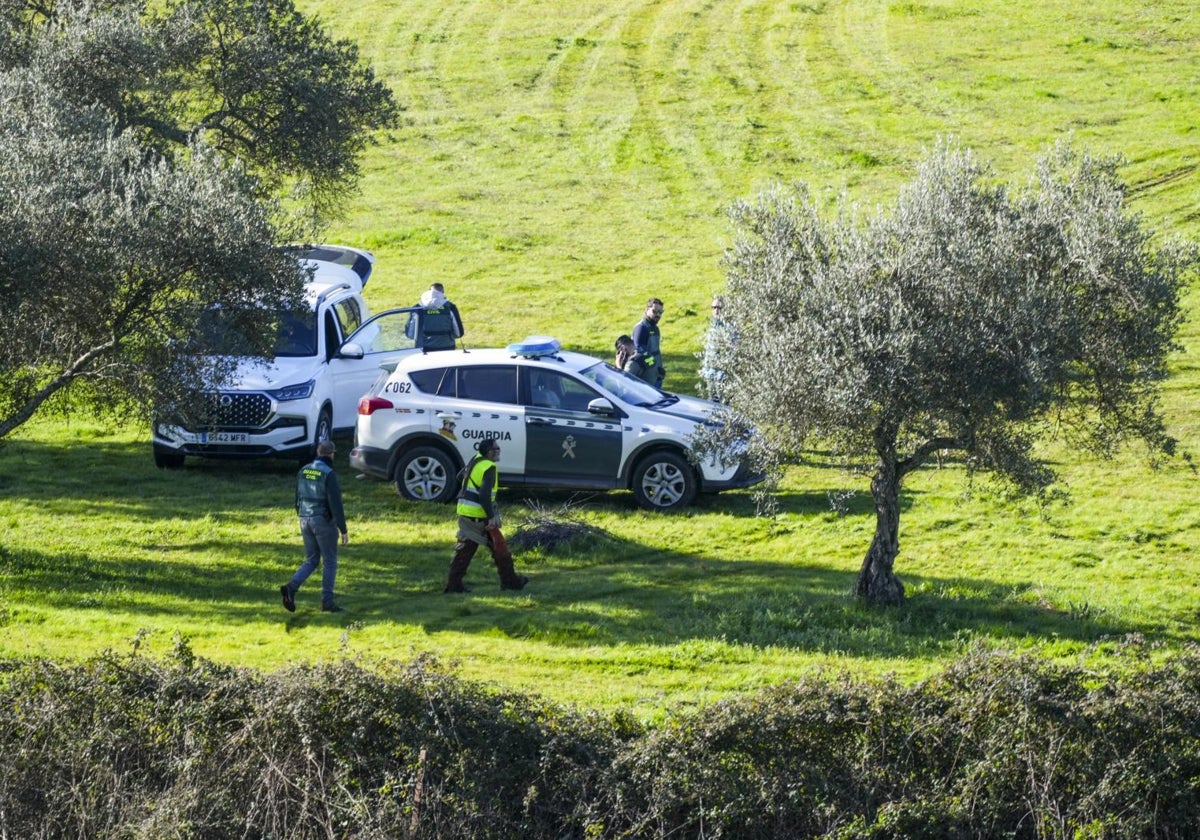
[[[449,355],[449,354],[448,354]],[[439,394],[449,396],[449,382]],[[454,440],[463,463],[475,455],[484,438],[500,442],[500,485],[504,475],[524,468],[524,409],[517,402],[516,365],[468,365],[455,371],[454,400],[439,407],[443,434]]]

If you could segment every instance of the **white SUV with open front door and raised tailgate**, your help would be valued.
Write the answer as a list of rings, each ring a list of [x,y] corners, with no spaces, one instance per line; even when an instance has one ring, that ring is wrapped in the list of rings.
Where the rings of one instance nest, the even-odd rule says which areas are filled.
[[[371,253],[319,245],[298,258],[313,270],[306,318],[281,319],[275,358],[242,360],[232,386],[206,394],[215,403],[210,424],[190,426],[169,414],[155,419],[158,467],[181,467],[187,455],[306,460],[318,440],[354,427],[359,397],[382,362],[419,352],[418,310],[367,318],[362,287],[374,264]]]

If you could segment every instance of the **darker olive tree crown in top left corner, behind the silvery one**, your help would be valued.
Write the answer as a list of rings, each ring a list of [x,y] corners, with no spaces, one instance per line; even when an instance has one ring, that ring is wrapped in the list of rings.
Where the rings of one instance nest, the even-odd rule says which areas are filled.
[[[317,218],[359,176],[391,91],[292,0],[0,0],[0,68],[28,67],[160,152],[203,134]]]

